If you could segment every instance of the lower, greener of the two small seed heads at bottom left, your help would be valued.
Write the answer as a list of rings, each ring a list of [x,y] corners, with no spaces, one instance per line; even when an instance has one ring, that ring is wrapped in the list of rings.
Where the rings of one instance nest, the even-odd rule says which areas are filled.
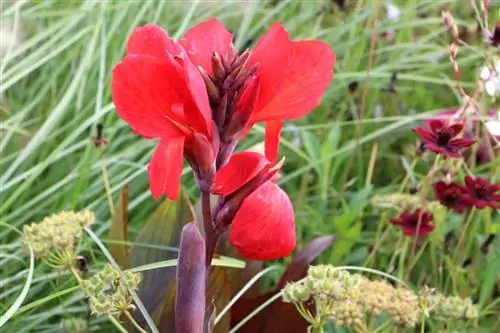
[[[139,273],[129,271],[124,274],[125,281],[118,270],[107,264],[95,275],[82,281],[92,314],[104,316],[135,309],[128,289],[137,290],[141,277]]]

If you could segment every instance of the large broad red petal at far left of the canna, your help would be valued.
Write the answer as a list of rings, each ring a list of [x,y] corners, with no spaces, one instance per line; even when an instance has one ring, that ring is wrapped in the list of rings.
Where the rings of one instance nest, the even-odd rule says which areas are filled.
[[[114,68],[112,77],[118,114],[146,137],[162,137],[173,123],[178,128],[208,133],[206,114],[210,114],[210,107],[206,90],[204,86],[201,90],[190,72],[171,58],[126,56]],[[204,84],[201,77],[199,80]]]

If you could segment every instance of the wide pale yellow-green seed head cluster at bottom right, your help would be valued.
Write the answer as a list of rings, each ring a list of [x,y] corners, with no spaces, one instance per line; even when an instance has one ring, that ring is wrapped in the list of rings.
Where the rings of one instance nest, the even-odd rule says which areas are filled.
[[[310,267],[305,279],[283,289],[283,301],[298,309],[311,300],[315,316],[309,313],[306,319],[313,325],[328,319],[338,326],[360,327],[369,316],[383,313],[394,325],[406,328],[415,327],[424,314],[446,319],[477,317],[477,309],[469,299],[445,297],[429,289],[419,294],[329,265]]]

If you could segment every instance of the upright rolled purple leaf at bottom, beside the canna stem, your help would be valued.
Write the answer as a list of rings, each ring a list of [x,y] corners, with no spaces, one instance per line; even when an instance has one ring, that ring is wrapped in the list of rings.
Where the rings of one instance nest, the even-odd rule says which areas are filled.
[[[205,317],[205,239],[196,222],[182,230],[177,264],[175,330],[177,333],[203,333]]]

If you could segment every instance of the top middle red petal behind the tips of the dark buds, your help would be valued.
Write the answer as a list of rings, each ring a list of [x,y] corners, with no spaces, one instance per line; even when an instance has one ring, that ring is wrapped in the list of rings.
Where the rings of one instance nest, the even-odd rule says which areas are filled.
[[[233,35],[216,19],[210,19],[189,29],[179,43],[191,61],[212,73],[212,54],[223,56],[231,52]]]

